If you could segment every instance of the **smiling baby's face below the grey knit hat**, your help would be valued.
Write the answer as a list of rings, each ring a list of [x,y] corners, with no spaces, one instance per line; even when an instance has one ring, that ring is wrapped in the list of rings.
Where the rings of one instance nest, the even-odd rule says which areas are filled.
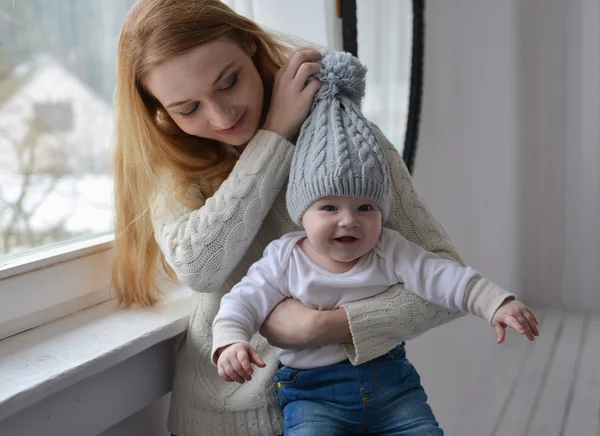
[[[373,249],[381,234],[381,211],[358,197],[325,197],[302,216],[311,245],[323,256],[351,262]]]

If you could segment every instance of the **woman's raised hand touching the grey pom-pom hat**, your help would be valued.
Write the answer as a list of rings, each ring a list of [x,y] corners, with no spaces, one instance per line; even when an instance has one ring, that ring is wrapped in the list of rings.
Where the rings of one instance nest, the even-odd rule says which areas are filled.
[[[302,49],[292,53],[275,75],[271,106],[263,129],[280,134],[291,140],[310,111],[313,98],[321,82],[311,80],[309,76],[321,71],[321,65],[315,63],[321,59],[317,50]]]

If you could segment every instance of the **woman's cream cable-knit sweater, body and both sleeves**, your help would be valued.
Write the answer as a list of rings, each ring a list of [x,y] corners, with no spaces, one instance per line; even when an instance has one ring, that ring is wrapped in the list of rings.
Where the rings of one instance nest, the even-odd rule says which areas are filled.
[[[373,128],[392,175],[393,204],[385,226],[440,257],[462,263],[442,226],[415,192],[397,150]],[[274,348],[255,335],[252,346],[267,368],[256,371],[249,383],[226,383],[211,363],[211,327],[223,295],[262,257],[265,247],[299,230],[288,216],[284,189],[293,147],[278,134],[259,130],[227,180],[197,210],[177,203],[172,192],[153,195],[156,240],[181,282],[198,291],[176,359],[169,430],[178,436],[283,433],[273,384]],[[400,342],[460,316],[427,303],[402,285],[343,307],[353,339],[343,348],[353,364],[379,357]]]

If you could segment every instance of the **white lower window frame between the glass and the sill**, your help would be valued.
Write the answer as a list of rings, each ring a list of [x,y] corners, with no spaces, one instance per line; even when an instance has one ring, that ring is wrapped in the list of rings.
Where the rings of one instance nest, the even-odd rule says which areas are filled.
[[[111,299],[113,245],[106,234],[0,261],[0,340]]]

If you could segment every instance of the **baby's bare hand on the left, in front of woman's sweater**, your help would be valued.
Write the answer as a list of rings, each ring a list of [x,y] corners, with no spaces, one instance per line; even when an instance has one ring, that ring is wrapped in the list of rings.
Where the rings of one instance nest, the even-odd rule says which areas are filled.
[[[260,368],[267,366],[249,344],[238,342],[220,348],[217,353],[219,354],[217,369],[219,370],[219,376],[225,381],[236,381],[244,384],[246,380],[252,380],[254,370],[250,365],[251,363]]]

